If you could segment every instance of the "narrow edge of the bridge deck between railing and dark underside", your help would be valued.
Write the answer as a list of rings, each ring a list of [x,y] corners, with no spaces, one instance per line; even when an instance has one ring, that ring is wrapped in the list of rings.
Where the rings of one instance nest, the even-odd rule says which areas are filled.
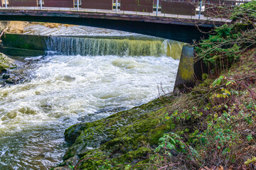
[[[183,26],[202,26],[214,27],[221,26],[224,23],[229,23],[230,20],[225,18],[210,18],[201,16],[198,19],[196,16],[183,16],[175,14],[166,14],[159,12],[156,16],[156,11],[153,13],[134,12],[134,11],[116,11],[115,10],[100,10],[100,9],[85,9],[80,8],[54,8],[54,7],[12,7],[0,8],[0,16],[58,16],[58,17],[73,17],[73,18],[100,18],[121,21],[141,21],[149,23],[166,23]]]

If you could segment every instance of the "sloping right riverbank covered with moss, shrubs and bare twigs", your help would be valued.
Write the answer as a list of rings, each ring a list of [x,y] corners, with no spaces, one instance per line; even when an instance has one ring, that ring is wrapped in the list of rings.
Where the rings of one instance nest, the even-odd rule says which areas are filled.
[[[210,67],[187,94],[65,130],[70,169],[255,169],[255,1],[198,43]],[[243,11],[243,12],[241,12]],[[61,169],[61,168],[55,168]]]

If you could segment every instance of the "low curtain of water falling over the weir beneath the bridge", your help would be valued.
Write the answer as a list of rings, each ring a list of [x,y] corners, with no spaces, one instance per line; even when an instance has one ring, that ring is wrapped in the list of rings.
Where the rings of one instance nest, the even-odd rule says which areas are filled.
[[[129,40],[116,38],[78,38],[50,36],[47,50],[58,55],[117,55],[117,56],[171,56],[170,45],[164,39]],[[182,48],[179,43],[178,49]],[[173,57],[173,56],[171,56]]]

